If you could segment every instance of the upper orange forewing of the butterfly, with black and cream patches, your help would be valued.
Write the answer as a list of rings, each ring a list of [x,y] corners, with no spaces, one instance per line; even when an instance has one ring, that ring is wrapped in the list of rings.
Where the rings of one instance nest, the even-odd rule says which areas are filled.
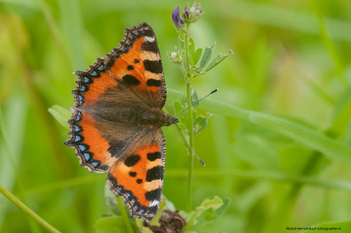
[[[120,46],[107,54],[105,69],[113,79],[127,86],[151,106],[162,109],[166,85],[162,61],[153,29],[142,23],[125,29]]]

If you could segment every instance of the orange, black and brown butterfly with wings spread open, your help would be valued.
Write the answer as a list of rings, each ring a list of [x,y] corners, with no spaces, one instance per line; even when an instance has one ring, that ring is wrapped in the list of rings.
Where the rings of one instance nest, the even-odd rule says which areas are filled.
[[[166,84],[153,29],[145,22],[125,29],[118,47],[75,74],[65,145],[75,149],[81,166],[108,172],[107,184],[130,216],[153,220],[164,179],[161,127],[178,122],[162,111]]]

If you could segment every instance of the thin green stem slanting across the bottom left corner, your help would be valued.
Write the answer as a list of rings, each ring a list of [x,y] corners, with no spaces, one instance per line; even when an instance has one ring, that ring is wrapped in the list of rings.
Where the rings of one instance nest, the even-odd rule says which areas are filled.
[[[23,202],[21,202],[18,198],[15,197],[10,191],[6,190],[1,184],[0,184],[0,193],[2,193],[10,202],[13,202],[18,208],[20,208],[24,213],[28,214],[31,218],[36,220],[37,223],[42,225],[46,230],[49,232],[59,232],[56,228],[54,228],[52,225],[47,223],[44,219],[40,218],[38,214],[36,214],[33,210],[29,209]]]

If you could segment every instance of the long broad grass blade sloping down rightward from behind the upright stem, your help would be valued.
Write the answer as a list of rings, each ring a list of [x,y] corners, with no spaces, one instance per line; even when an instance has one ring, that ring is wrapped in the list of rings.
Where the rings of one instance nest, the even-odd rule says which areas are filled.
[[[176,90],[167,90],[167,99],[175,100],[184,97]],[[292,140],[297,140],[307,147],[324,153],[329,159],[340,159],[351,164],[351,147],[345,145],[340,140],[328,138],[321,132],[306,127],[303,124],[292,122],[276,115],[260,113],[258,111],[249,111],[238,106],[233,106],[225,102],[214,101],[210,98],[203,99],[199,108],[214,113],[248,120],[260,127],[274,131]]]

